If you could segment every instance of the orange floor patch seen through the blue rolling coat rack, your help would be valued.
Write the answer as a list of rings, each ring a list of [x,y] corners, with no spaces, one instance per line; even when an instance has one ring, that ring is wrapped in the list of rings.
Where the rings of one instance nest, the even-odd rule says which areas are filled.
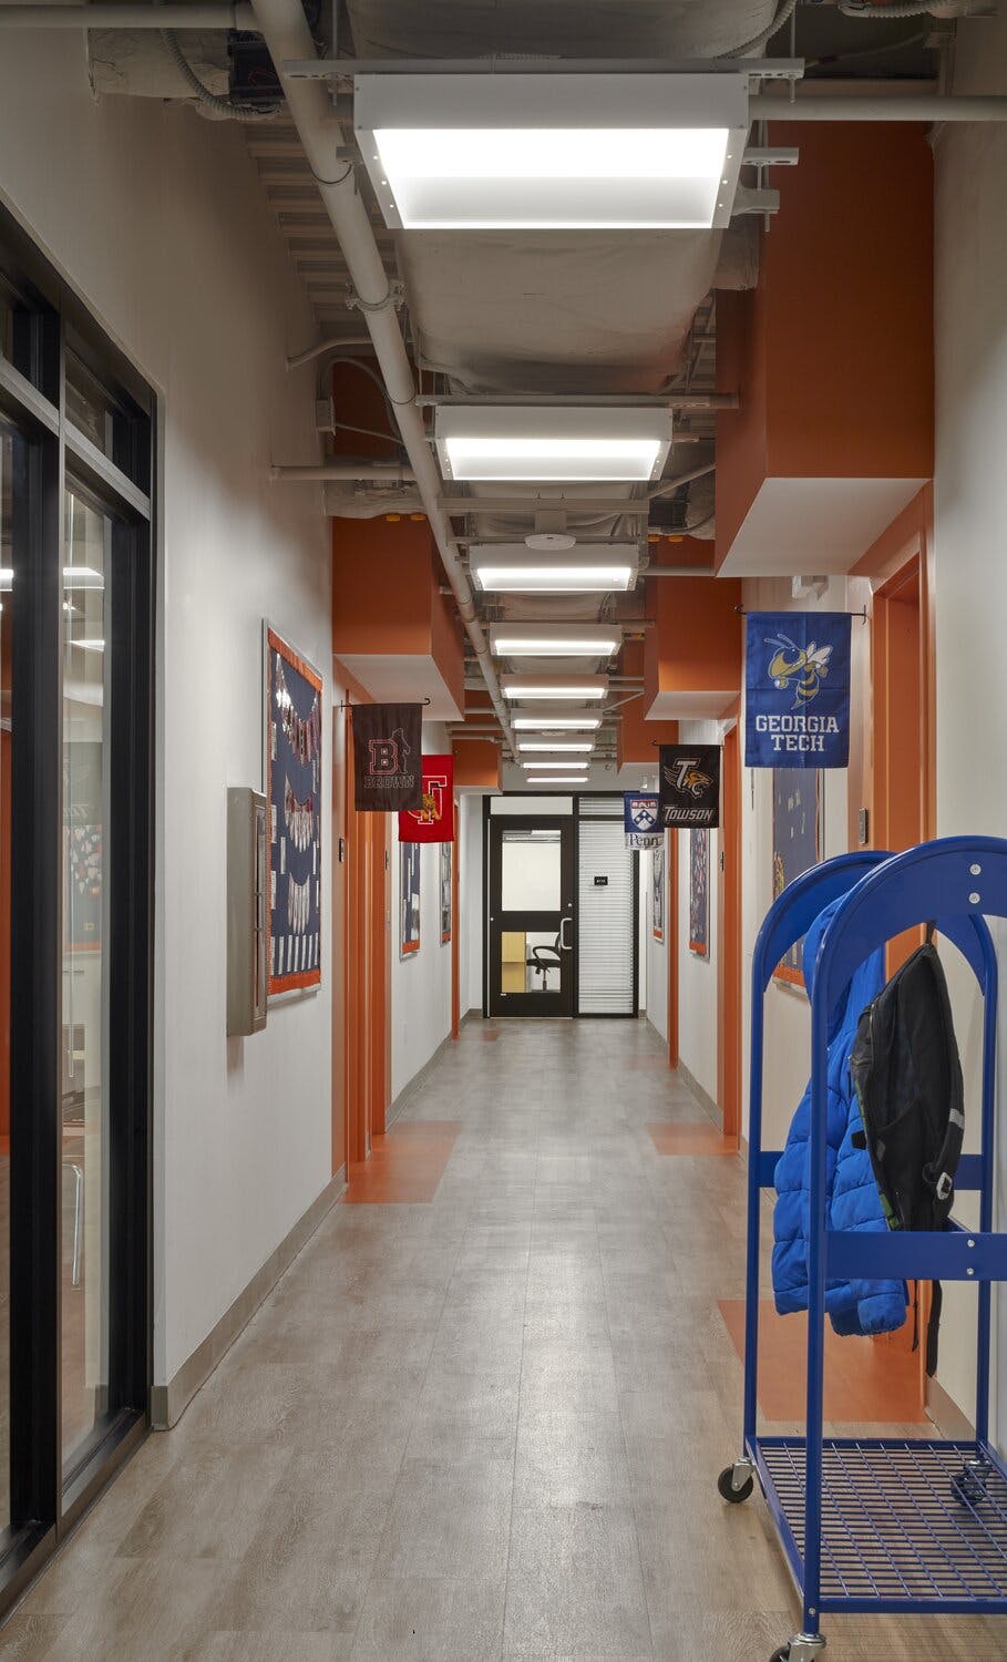
[[[718,1305],[734,1350],[744,1360],[744,1300],[720,1298]],[[778,1316],[771,1298],[759,1300],[759,1408],[766,1419],[804,1419],[806,1356],[808,1316]],[[826,1323],[824,1418],[927,1424],[916,1353],[901,1343],[841,1340]]]

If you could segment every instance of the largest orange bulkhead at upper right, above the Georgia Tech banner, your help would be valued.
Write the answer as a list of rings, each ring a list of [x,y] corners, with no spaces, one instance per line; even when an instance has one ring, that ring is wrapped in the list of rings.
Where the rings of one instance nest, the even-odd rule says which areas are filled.
[[[718,296],[716,562],[764,477],[934,470],[934,165],[926,128],[773,121],[796,145],[758,289]]]

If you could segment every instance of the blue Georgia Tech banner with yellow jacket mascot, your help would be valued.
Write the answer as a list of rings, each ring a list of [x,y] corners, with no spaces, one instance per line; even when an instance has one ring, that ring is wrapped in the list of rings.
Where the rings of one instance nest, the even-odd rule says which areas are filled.
[[[846,768],[849,622],[849,612],[749,612],[746,768]]]

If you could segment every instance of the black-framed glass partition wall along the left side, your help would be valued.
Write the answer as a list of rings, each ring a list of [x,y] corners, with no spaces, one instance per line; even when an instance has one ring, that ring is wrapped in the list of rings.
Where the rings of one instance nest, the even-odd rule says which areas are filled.
[[[0,211],[0,1610],[148,1424],[153,432]]]

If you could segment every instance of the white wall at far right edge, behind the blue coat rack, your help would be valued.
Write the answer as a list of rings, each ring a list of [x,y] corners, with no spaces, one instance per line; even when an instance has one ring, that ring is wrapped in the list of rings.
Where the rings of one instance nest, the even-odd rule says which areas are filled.
[[[955,91],[1007,93],[1007,18],[959,25]],[[1007,834],[1007,131],[946,126],[936,145],[937,831]],[[1004,977],[1004,954],[1000,952]],[[975,999],[955,977],[955,1020],[975,1054]],[[1007,1022],[1000,1020],[1000,1100]],[[975,1077],[967,1065],[967,1077]],[[965,1115],[974,1145],[977,1097]],[[1000,1110],[1002,1124],[1002,1110]],[[1000,1197],[1007,1138],[1000,1137]],[[959,1208],[964,1213],[964,1207]],[[999,1227],[1007,1227],[1000,1205]],[[975,1295],[946,1286],[939,1381],[970,1414]],[[1007,1448],[1007,1303],[1000,1295],[999,1441]]]

